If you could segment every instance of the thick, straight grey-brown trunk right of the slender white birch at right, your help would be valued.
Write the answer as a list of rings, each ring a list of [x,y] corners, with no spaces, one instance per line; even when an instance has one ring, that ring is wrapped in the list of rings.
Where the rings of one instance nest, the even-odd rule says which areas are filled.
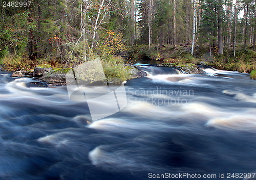
[[[218,47],[219,54],[223,54],[223,36],[222,36],[222,1],[219,1],[219,12],[218,12]]]

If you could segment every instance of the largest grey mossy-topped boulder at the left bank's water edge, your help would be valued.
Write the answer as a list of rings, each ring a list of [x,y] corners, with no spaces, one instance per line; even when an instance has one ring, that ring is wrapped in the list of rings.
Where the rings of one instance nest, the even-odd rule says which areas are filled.
[[[66,85],[66,73],[71,68],[56,68],[39,78],[39,81],[46,82],[49,86],[62,86]]]

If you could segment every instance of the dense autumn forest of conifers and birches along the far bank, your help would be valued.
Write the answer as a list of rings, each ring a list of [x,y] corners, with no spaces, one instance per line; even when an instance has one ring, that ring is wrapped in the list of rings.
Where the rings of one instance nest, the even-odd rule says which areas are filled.
[[[0,1],[5,70],[138,58],[256,68],[256,0]]]

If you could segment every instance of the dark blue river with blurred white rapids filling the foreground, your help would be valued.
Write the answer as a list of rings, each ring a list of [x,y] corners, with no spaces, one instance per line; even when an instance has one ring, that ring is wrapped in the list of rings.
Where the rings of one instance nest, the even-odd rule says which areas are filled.
[[[66,87],[28,88],[32,79],[0,71],[0,179],[251,179],[256,81],[140,67],[148,75],[127,81],[127,106],[96,121]]]

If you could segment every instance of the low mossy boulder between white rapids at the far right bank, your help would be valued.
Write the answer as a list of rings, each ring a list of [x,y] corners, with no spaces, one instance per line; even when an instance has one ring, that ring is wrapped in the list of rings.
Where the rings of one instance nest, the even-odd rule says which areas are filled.
[[[162,64],[157,64],[156,66],[177,68],[177,69],[180,69],[182,73],[186,73],[186,74],[204,73],[204,71],[199,66],[192,63],[162,63]]]

